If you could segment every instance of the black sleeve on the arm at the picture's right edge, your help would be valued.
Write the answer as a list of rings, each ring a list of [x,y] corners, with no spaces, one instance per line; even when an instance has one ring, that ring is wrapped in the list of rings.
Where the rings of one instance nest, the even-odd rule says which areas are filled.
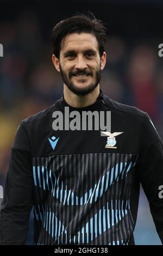
[[[159,196],[159,187],[163,185],[163,144],[148,114],[145,116],[141,132],[142,143],[137,172],[163,244],[163,198]]]

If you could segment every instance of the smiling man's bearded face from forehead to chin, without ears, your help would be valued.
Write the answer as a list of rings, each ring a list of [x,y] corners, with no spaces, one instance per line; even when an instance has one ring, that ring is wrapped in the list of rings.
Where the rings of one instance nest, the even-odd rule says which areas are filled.
[[[91,93],[101,80],[101,58],[95,35],[73,33],[61,42],[59,71],[64,84],[77,95]]]

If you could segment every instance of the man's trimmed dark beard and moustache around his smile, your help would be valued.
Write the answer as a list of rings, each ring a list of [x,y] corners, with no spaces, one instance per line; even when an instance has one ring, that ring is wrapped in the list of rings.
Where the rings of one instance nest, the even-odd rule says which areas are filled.
[[[60,64],[59,64],[59,68],[60,68],[60,74],[61,74],[62,80],[66,84],[68,89],[71,90],[71,92],[73,92],[74,94],[77,94],[77,95],[80,95],[80,96],[81,95],[82,96],[87,95],[87,94],[91,93],[93,90],[95,90],[95,88],[98,86],[98,84],[101,80],[101,71],[102,71],[101,70],[101,65],[96,70],[95,82],[90,83],[85,88],[78,88],[78,86],[76,86],[75,83],[71,82],[70,78],[73,75],[80,75],[80,74],[92,76],[93,74],[91,72],[87,72],[85,70],[80,70],[80,71],[77,71],[77,72],[70,72],[69,76],[67,76],[66,72],[64,70],[62,70]],[[81,80],[82,80],[82,78],[81,78]],[[85,82],[85,80],[83,80],[83,82]]]

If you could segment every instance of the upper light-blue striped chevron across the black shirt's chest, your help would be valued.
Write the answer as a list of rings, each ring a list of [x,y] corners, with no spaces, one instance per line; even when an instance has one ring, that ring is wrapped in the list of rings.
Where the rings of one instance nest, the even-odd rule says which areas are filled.
[[[124,173],[126,172],[126,175],[127,175],[127,173],[129,172],[132,164],[133,164],[133,162],[129,162],[128,168],[126,169],[127,162],[124,163],[124,168],[122,168],[122,166],[123,166],[122,162],[117,163],[115,167],[112,167],[111,173],[110,173],[110,171],[106,172],[101,177],[101,179],[99,179],[98,183],[96,183],[94,187],[90,188],[90,190],[88,192],[86,192],[83,197],[78,197],[73,193],[72,190],[67,190],[67,184],[66,184],[66,190],[64,191],[65,196],[62,197],[63,181],[61,181],[61,184],[62,184],[61,185],[61,190],[59,190],[59,177],[57,179],[55,173],[53,174],[54,175],[54,180],[55,180],[55,182],[53,184],[52,171],[49,170],[49,172],[48,172],[47,168],[46,168],[46,180],[45,180],[45,168],[43,166],[41,167],[42,182],[41,182],[41,178],[40,178],[40,166],[37,166],[37,177],[38,177],[38,180],[39,180],[39,187],[41,187],[41,183],[43,184],[42,185],[43,190],[46,189],[45,184],[46,184],[46,187],[47,187],[48,191],[50,190],[49,189],[49,180],[51,181],[52,194],[57,199],[59,199],[61,203],[64,203],[64,204],[66,203],[67,205],[70,205],[70,198],[71,198],[71,202],[72,202],[71,205],[74,205],[74,201],[76,202],[76,205],[85,205],[87,203],[92,204],[92,200],[93,200],[93,203],[95,203],[97,201],[97,199],[101,198],[103,196],[103,194],[106,192],[106,190],[108,190],[108,188],[112,184],[114,184],[114,182],[118,182],[119,179],[123,179]],[[135,163],[134,163],[134,165],[135,165]],[[119,166],[120,166],[120,172],[118,173],[118,167]],[[115,174],[115,176],[114,176],[114,174]],[[121,178],[120,178],[120,176],[121,176]],[[37,186],[35,166],[33,166],[33,177],[34,177],[34,184],[35,184],[35,186]],[[109,179],[109,177],[110,177],[110,179]],[[105,186],[104,186],[104,180],[105,180]],[[57,188],[56,188],[56,184],[57,184]],[[100,194],[99,194],[99,197],[98,197],[99,190],[100,190]],[[93,197],[95,197],[95,199],[93,199]]]

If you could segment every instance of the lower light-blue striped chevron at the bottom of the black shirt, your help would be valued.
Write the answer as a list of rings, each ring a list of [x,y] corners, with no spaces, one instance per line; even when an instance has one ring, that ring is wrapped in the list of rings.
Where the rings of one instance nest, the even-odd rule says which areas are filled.
[[[40,212],[40,206],[37,206],[38,214],[36,213],[36,209],[34,207],[34,214],[37,216],[37,220],[40,219],[42,222],[43,228],[51,235],[55,241],[58,240],[59,243],[59,237],[61,237],[61,241],[63,240],[63,235],[66,236],[66,244],[67,241],[69,240],[69,243],[71,241],[74,241],[76,243],[76,240],[78,241],[78,244],[80,243],[80,237],[82,238],[82,243],[89,243],[92,241],[94,238],[97,238],[97,236],[100,236],[102,234],[102,229],[103,232],[106,230],[110,229],[110,227],[113,227],[118,223],[118,221],[121,221],[124,216],[129,214],[129,202],[126,203],[126,207],[124,208],[123,201],[122,205],[120,207],[120,201],[118,202],[118,209],[109,209],[109,203],[106,204],[106,209],[103,206],[103,210],[99,209],[95,215],[93,215],[89,221],[85,223],[85,225],[80,228],[78,231],[77,235],[71,235],[68,234],[66,228],[64,225],[61,223],[61,221],[55,216],[54,212],[51,212],[51,210],[44,210],[43,206],[43,219],[42,219],[42,214]],[[117,202],[116,202],[117,205]],[[112,206],[112,203],[111,203]],[[47,207],[47,206],[46,206]],[[111,213],[111,219],[110,219],[110,213]],[[98,220],[97,221],[97,216]],[[106,216],[107,216],[107,222],[106,222]],[[93,231],[93,224],[95,227],[95,230]],[[90,227],[90,228],[89,228]],[[55,234],[54,234],[55,230]],[[95,237],[93,237],[93,232],[95,233]],[[86,241],[85,241],[85,236],[84,233],[86,233]],[[91,234],[91,239],[89,240],[89,233]],[[119,241],[119,243],[122,245],[123,241]],[[38,243],[39,245],[42,245],[42,243]],[[114,241],[113,241],[114,244]],[[111,243],[109,244],[111,245]]]

